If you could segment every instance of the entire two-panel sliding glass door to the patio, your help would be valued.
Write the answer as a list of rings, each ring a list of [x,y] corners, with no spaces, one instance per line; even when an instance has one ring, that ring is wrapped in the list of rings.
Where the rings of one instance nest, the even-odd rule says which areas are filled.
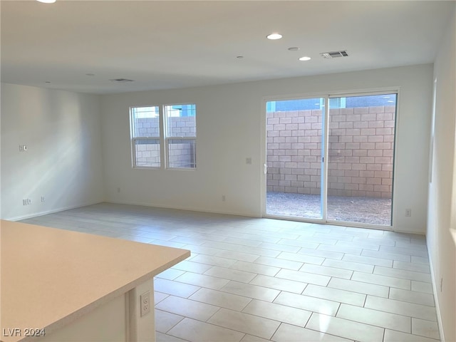
[[[266,216],[390,226],[396,103],[390,92],[267,102]]]

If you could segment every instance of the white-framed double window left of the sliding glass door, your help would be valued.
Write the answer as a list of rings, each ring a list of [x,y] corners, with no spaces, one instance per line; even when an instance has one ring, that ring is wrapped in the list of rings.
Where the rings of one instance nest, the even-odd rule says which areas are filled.
[[[196,168],[196,105],[130,108],[133,167]]]

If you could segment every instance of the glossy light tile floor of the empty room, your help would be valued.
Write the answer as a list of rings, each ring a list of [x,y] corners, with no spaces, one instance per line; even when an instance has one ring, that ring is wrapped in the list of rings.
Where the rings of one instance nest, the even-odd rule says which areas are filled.
[[[418,235],[107,203],[23,222],[190,249],[155,278],[159,342],[440,341]]]

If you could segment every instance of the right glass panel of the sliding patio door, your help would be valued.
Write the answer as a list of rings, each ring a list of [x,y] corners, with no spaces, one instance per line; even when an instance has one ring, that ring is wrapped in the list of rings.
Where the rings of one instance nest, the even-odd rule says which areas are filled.
[[[328,220],[391,225],[397,94],[329,101]]]

